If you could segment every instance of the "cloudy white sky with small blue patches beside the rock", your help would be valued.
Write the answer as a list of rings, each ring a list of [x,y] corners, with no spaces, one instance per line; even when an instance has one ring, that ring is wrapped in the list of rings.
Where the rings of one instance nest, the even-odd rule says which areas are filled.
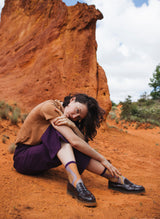
[[[148,83],[160,64],[160,0],[79,2],[94,4],[104,16],[97,21],[97,60],[106,73],[111,100],[119,103],[130,95],[136,101],[144,92],[150,94]]]

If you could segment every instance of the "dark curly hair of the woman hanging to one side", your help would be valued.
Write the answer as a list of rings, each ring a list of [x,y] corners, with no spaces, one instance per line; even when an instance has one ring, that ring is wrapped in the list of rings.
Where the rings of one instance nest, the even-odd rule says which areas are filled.
[[[76,102],[87,105],[87,116],[81,121],[76,121],[75,124],[84,134],[85,140],[88,142],[89,140],[93,140],[96,136],[97,128],[100,127],[101,122],[104,120],[105,111],[98,105],[96,99],[82,93],[66,96],[63,101],[63,107],[66,107],[73,97],[76,98]]]

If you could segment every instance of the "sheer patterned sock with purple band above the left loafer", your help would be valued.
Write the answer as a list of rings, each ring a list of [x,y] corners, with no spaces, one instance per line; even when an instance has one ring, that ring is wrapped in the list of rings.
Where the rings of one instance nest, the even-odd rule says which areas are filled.
[[[75,161],[70,161],[65,165],[69,182],[76,187],[77,183],[83,182],[81,176],[77,169],[77,164]]]

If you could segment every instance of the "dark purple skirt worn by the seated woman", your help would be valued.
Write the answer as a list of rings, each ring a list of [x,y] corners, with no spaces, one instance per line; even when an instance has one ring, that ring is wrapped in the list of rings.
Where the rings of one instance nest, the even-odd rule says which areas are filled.
[[[57,153],[61,148],[61,140],[68,142],[50,125],[38,145],[19,143],[14,153],[14,168],[23,174],[34,175],[61,165]],[[73,148],[79,173],[88,166],[90,157]]]

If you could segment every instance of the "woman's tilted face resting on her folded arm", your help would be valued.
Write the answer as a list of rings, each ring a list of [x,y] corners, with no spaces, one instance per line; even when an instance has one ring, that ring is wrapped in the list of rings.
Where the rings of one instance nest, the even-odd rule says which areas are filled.
[[[75,97],[70,100],[70,103],[64,109],[64,115],[74,122],[84,119],[87,113],[86,104],[75,102]]]

